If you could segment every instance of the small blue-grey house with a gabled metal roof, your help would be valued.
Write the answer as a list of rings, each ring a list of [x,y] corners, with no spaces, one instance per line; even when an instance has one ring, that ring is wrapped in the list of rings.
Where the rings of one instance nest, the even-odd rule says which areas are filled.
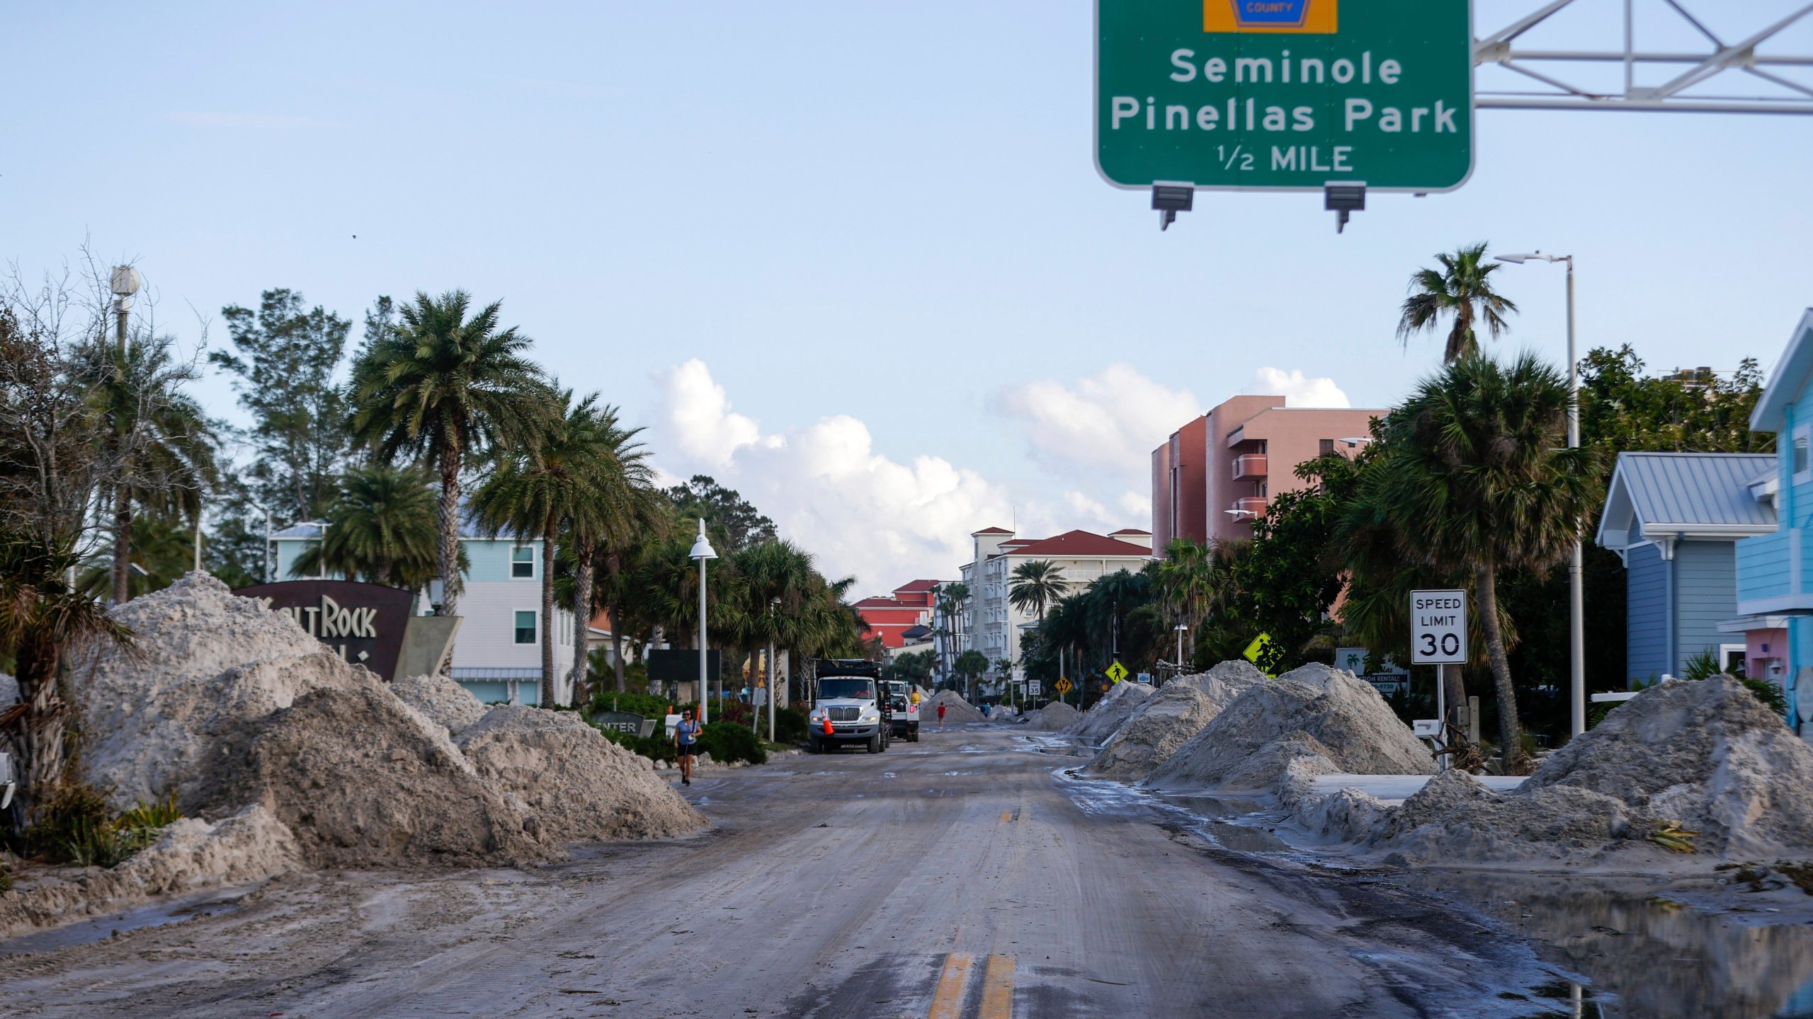
[[[1599,546],[1624,560],[1630,680],[1679,676],[1706,649],[1730,665],[1744,636],[1737,615],[1737,542],[1775,531],[1771,453],[1619,453],[1599,519]]]

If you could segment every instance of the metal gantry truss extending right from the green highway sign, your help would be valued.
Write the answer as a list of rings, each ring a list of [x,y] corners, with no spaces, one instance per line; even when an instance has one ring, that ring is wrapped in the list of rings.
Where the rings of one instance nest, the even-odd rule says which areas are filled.
[[[1757,47],[1784,29],[1813,15],[1808,4],[1751,34],[1726,42],[1701,18],[1695,18],[1681,0],[1661,0],[1711,45],[1708,53],[1639,51],[1635,49],[1634,0],[1621,0],[1624,9],[1624,40],[1619,49],[1519,49],[1517,38],[1575,0],[1550,0],[1537,9],[1474,40],[1474,73],[1498,65],[1545,85],[1537,91],[1481,89],[1474,96],[1479,109],[1592,109],[1592,111],[1659,111],[1659,112],[1786,112],[1813,114],[1813,83],[1798,69],[1813,69],[1813,54],[1757,53]],[[1717,0],[1721,13],[1730,13],[1730,0]],[[1563,78],[1565,65],[1595,65],[1608,69],[1623,65],[1623,89],[1577,85]],[[1639,65],[1666,65],[1679,69],[1657,85],[1637,83]],[[1746,78],[1748,76],[1748,78]],[[1610,76],[1608,76],[1610,78]],[[1769,82],[1768,94],[1719,94],[1699,89],[1719,78],[1753,85]],[[1692,92],[1690,92],[1692,91]]]

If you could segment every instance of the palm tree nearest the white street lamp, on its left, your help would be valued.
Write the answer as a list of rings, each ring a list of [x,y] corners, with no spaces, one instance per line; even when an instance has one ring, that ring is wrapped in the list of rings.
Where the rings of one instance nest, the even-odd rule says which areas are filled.
[[[636,442],[640,428],[625,428],[615,406],[598,408],[589,417],[567,413],[567,428],[577,442],[589,442],[593,457],[580,462],[589,464],[593,477],[586,479],[596,493],[596,500],[580,506],[567,519],[566,540],[573,558],[573,696],[578,704],[587,700],[587,636],[595,606],[593,589],[600,558],[606,577],[616,578],[622,571],[620,553],[642,535],[658,533],[667,522],[667,499],[654,488],[654,468],[649,466],[649,451]],[[600,557],[600,549],[604,555]],[[613,589],[613,593],[616,593]],[[624,642],[622,627],[611,616],[611,644],[615,651],[616,691],[624,691]]]

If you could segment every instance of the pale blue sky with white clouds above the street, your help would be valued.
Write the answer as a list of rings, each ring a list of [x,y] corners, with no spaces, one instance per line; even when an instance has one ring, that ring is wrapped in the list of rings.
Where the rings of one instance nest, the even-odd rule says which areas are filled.
[[[1615,4],[1577,7],[1528,42],[1615,34]],[[1693,7],[1730,38],[1788,4]],[[1144,450],[1260,370],[1389,404],[1436,355],[1392,337],[1405,281],[1459,243],[1574,252],[1583,346],[1652,366],[1768,366],[1813,303],[1809,118],[1481,111],[1459,192],[1374,196],[1343,236],[1314,196],[1202,194],[1160,234],[1091,163],[1084,0],[5,22],[0,256],[24,272],[87,238],[216,345],[221,305],[268,286],[354,319],[377,294],[502,297],[665,470],[756,493],[874,589],[950,575],[1003,517],[1144,526]],[[1559,359],[1559,270],[1503,286],[1510,343]],[[223,381],[199,393],[232,410]]]

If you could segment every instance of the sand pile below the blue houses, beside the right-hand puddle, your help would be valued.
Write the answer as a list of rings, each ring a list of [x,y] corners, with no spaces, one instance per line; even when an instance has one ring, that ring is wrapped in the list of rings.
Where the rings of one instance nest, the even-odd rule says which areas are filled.
[[[1672,854],[1650,836],[1682,829],[1726,859],[1813,849],[1813,747],[1726,676],[1641,693],[1514,792],[1445,772],[1385,810],[1365,845],[1401,861],[1659,861]]]

